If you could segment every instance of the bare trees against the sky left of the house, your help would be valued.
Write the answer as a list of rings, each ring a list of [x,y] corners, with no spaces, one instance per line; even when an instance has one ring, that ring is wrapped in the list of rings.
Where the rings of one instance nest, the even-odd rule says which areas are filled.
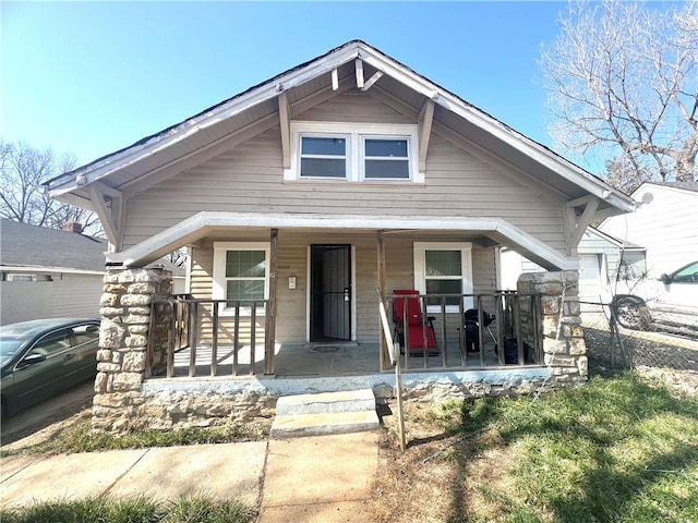
[[[0,139],[0,217],[50,229],[76,221],[86,232],[101,234],[95,212],[51,199],[40,185],[74,167],[74,156]]]

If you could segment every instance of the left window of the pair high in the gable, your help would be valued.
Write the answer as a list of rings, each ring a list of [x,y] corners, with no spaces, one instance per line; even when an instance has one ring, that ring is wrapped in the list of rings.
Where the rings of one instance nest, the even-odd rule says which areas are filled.
[[[347,178],[347,138],[301,135],[301,178]]]

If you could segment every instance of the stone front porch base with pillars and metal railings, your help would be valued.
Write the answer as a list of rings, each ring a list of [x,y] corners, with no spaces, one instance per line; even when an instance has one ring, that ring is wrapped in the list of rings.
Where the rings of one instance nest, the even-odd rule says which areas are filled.
[[[412,351],[400,356],[404,397],[512,394],[586,381],[576,288],[576,272],[524,275],[518,294],[500,297],[509,305],[518,300],[518,307],[497,305],[496,293],[456,295],[459,305],[455,313],[444,308],[453,296],[442,296],[441,305],[430,296],[435,300],[431,306],[441,307],[441,312],[428,311],[428,315],[434,315],[438,351],[418,355],[410,344]],[[232,324],[228,318],[227,325],[213,328],[218,307],[207,309],[201,303],[189,308],[191,317],[196,318],[194,323],[178,331],[173,327],[186,323],[181,315],[171,314],[168,292],[169,277],[163,269],[115,269],[106,277],[93,408],[95,429],[209,426],[269,417],[277,399],[285,394],[366,388],[376,398],[394,394],[387,343],[293,344],[276,340],[268,344],[268,314],[255,317],[256,307],[246,307],[246,325],[242,325],[241,315],[237,329],[230,329],[234,318]],[[373,295],[365,312],[378,324],[375,289]],[[525,301],[522,296],[537,297]],[[390,300],[388,296],[384,302],[387,311],[392,309]],[[478,311],[492,311],[496,316],[491,324],[492,337],[482,321],[478,321],[477,333],[471,329],[477,345],[467,343],[464,336],[464,309],[469,305],[479,305]],[[455,306],[453,301],[449,306]],[[422,332],[428,328],[428,315],[417,327]],[[255,321],[250,323],[250,318]],[[479,314],[477,319],[481,319]],[[219,330],[224,336],[212,336]],[[407,338],[411,336],[413,332],[407,333]],[[512,337],[517,340],[514,362],[504,351],[494,352],[494,340]],[[418,333],[417,338],[429,336]],[[409,340],[404,339],[406,342]]]

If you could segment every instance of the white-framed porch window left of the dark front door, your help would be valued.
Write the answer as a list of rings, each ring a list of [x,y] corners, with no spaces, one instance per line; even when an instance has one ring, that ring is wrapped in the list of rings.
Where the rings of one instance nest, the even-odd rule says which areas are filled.
[[[236,302],[249,314],[252,302],[269,297],[267,260],[269,244],[264,242],[215,242],[212,297],[225,300],[220,314],[232,314]],[[263,311],[257,303],[257,311]]]

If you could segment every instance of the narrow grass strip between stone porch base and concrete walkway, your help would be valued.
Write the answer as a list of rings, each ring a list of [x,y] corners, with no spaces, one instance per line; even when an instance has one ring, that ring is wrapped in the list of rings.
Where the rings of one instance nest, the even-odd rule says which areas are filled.
[[[89,418],[59,428],[45,441],[0,451],[1,457],[14,454],[74,453],[100,450],[143,449],[178,445],[230,443],[260,441],[268,436],[269,425],[245,423],[224,427],[142,430],[121,436],[92,431]]]

